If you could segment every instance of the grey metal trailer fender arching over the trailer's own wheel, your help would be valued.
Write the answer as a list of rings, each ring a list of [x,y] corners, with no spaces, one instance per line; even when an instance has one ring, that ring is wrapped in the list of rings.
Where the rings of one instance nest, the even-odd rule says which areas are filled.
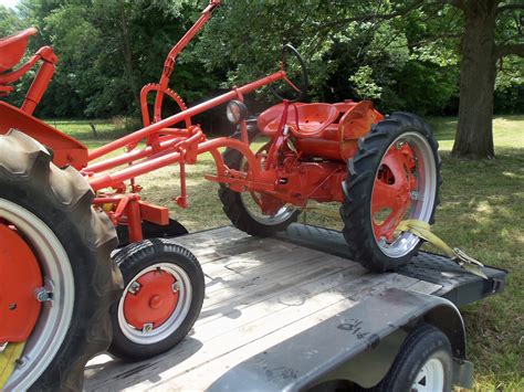
[[[304,391],[329,380],[370,388],[386,375],[405,338],[420,322],[449,337],[454,356],[467,364],[455,383],[468,384],[472,368],[464,360],[465,332],[457,307],[438,296],[389,288],[244,360],[209,390],[256,385],[264,391]]]

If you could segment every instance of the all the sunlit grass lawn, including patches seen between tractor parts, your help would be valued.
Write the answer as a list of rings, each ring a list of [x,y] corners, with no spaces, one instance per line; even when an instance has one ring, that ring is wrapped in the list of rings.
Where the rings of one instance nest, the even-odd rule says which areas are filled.
[[[450,157],[457,121],[429,118],[440,141],[443,184],[434,232],[485,264],[511,272],[506,290],[462,308],[469,358],[475,365],[479,391],[524,390],[524,116],[494,120],[496,159],[468,161]],[[52,121],[51,121],[52,123]],[[122,134],[115,125],[96,124],[98,139],[83,121],[57,121],[60,129],[98,147]],[[210,156],[189,167],[190,206],[172,202],[178,195],[177,168],[140,178],[143,197],[172,208],[172,216],[189,231],[230,224],[221,211],[218,186],[203,180],[212,173]],[[336,209],[336,206],[333,206]],[[302,218],[304,219],[304,218]],[[307,222],[339,227],[340,222],[307,213]],[[425,245],[426,246],[426,245]]]

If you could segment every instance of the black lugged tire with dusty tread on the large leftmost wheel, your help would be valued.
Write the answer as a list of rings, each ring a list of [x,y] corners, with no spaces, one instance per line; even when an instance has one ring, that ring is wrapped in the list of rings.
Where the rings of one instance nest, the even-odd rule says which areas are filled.
[[[11,130],[0,136],[0,182],[8,183],[7,187],[18,184],[14,194],[10,194],[11,199],[34,200],[34,204],[42,199],[50,201],[48,210],[53,209],[61,216],[69,218],[54,218],[55,226],[51,230],[59,237],[59,233],[67,231],[77,233],[76,237],[88,253],[76,261],[71,259],[70,255],[70,262],[83,263],[81,278],[84,282],[82,287],[77,285],[78,274],[73,268],[76,298],[70,330],[55,359],[32,386],[32,390],[39,391],[81,390],[85,363],[104,351],[112,340],[108,309],[122,292],[122,276],[109,257],[117,245],[115,230],[105,213],[92,208],[94,193],[85,179],[73,168],[60,169],[54,166],[49,151],[36,140]],[[40,211],[34,211],[36,209],[33,206],[32,212],[39,215]],[[42,213],[49,216],[49,211]],[[46,221],[50,220],[52,218]],[[63,245],[70,254],[67,247],[72,245]],[[86,289],[87,293],[78,294],[80,289]],[[81,300],[90,304],[83,304],[77,310]]]

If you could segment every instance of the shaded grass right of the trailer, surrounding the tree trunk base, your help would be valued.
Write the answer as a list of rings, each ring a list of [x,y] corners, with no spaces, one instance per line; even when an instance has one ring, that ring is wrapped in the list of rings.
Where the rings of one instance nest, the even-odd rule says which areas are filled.
[[[457,121],[430,118],[440,141],[442,194],[436,233],[510,271],[504,293],[462,308],[479,391],[524,390],[524,116],[494,120],[496,159],[450,157]]]

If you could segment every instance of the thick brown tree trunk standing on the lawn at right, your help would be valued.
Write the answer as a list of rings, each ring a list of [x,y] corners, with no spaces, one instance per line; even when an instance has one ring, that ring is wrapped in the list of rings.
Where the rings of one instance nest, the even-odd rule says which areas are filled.
[[[461,47],[459,125],[452,153],[491,159],[496,76],[495,0],[465,1]]]

